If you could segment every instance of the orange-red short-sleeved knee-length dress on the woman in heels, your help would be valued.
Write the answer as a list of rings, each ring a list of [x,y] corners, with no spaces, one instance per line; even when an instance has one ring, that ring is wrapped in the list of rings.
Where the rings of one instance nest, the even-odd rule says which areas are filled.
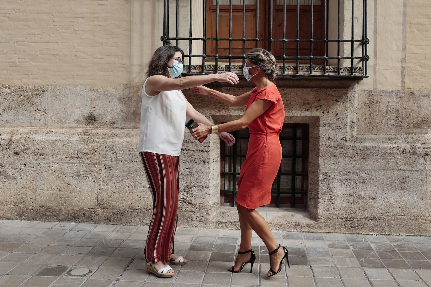
[[[281,144],[278,134],[284,122],[284,105],[277,86],[253,89],[246,111],[257,100],[267,99],[272,106],[253,120],[250,129],[247,156],[241,166],[238,180],[237,204],[248,209],[271,202],[271,186],[281,163]]]

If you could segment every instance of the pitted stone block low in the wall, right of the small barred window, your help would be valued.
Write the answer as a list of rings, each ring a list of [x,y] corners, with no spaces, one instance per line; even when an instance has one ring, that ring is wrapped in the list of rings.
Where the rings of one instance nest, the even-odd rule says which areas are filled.
[[[422,216],[425,171],[321,170],[319,216]]]

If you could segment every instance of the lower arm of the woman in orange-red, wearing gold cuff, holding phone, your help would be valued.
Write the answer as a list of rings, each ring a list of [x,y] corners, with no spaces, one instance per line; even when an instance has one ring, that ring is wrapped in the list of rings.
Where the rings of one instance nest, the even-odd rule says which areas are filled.
[[[267,109],[269,109],[272,105],[272,102],[267,99],[257,100],[250,105],[250,107],[245,112],[244,116],[242,116],[239,120],[232,120],[228,123],[219,124],[219,132],[231,132],[233,130],[242,130],[245,129],[249,123],[251,123],[254,119],[261,116]],[[196,139],[200,139],[203,136],[206,136],[212,133],[211,126],[205,124],[199,124],[199,127],[190,131],[190,133],[195,136]]]

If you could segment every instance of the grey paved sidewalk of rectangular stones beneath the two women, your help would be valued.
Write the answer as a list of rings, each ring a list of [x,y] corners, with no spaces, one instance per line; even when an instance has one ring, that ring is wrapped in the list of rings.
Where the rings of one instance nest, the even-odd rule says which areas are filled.
[[[256,262],[232,274],[238,230],[178,228],[187,265],[172,278],[144,269],[147,226],[0,220],[0,286],[431,287],[431,238],[274,232],[291,268],[272,278],[268,250],[253,235]]]

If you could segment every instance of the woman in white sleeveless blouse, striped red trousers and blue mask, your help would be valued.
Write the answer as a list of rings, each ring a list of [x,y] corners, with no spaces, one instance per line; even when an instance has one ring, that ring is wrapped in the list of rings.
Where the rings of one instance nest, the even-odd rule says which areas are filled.
[[[208,74],[180,77],[184,53],[177,46],[162,46],[150,59],[147,80],[142,87],[141,132],[138,151],[153,196],[153,217],[145,245],[145,268],[159,277],[172,277],[167,265],[184,265],[187,259],[174,253],[177,226],[179,155],[184,139],[186,116],[199,123],[212,125],[196,111],[181,89],[214,81],[238,83],[236,74]],[[234,137],[219,133],[228,145]]]

